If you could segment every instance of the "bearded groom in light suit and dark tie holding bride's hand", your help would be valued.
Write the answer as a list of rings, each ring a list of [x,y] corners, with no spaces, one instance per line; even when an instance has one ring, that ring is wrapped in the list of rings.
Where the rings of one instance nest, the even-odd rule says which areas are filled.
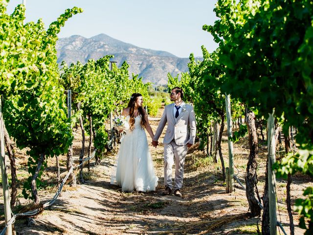
[[[183,91],[181,88],[173,88],[170,98],[174,103],[165,106],[152,144],[155,147],[158,145],[157,140],[167,122],[167,130],[163,140],[165,191],[162,194],[169,195],[174,190],[174,195],[181,197],[180,188],[182,187],[187,149],[195,143],[196,138],[196,117],[193,107],[182,101]],[[173,187],[172,166],[174,158],[175,181]]]

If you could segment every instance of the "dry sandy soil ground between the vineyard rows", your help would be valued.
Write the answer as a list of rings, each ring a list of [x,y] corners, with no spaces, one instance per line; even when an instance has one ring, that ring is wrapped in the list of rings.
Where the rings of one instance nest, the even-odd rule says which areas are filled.
[[[159,110],[160,117],[163,110]],[[151,118],[150,124],[155,132],[159,118]],[[148,136],[148,141],[151,138]],[[160,142],[163,137],[161,136]],[[86,140],[86,145],[88,139]],[[78,163],[81,137],[77,130],[73,152]],[[258,190],[262,197],[266,167],[266,142],[260,142],[258,159]],[[111,168],[115,162],[118,146],[107,153],[100,165],[91,161],[90,171],[84,168],[85,183],[76,188],[65,186],[56,203],[32,218],[20,218],[15,222],[19,235],[115,235],[115,234],[258,234],[261,230],[260,218],[248,218],[246,193],[235,183],[235,191],[225,192],[221,163],[215,164],[211,157],[206,157],[198,149],[198,144],[188,150],[185,161],[184,184],[181,198],[172,195],[162,196],[163,186],[163,144],[157,148],[150,145],[150,151],[159,178],[156,191],[122,192],[120,188],[110,185]],[[227,138],[223,137],[223,157],[228,165]],[[235,174],[245,183],[245,171],[249,147],[247,140],[234,144]],[[8,164],[8,163],[7,163]],[[27,158],[17,152],[18,177],[27,177]],[[61,171],[66,171],[66,157],[61,159]],[[56,192],[55,159],[50,159],[45,170],[45,188],[39,191],[42,202],[49,200]],[[174,172],[174,171],[173,171]],[[77,179],[79,171],[76,171]],[[65,174],[62,174],[64,177]],[[293,177],[291,198],[301,197],[307,186],[313,186],[312,179],[304,176]],[[21,182],[20,182],[20,185]],[[277,220],[289,232],[289,217],[286,207],[286,182],[277,179]],[[30,207],[31,201],[22,198],[19,192],[18,206],[14,209]],[[1,190],[1,203],[3,195]],[[3,204],[1,205],[3,214]],[[298,224],[299,215],[293,213],[295,234],[304,230]],[[4,221],[3,215],[1,221]],[[2,224],[3,228],[3,224]],[[279,233],[278,233],[279,234]],[[280,231],[280,234],[283,234]]]

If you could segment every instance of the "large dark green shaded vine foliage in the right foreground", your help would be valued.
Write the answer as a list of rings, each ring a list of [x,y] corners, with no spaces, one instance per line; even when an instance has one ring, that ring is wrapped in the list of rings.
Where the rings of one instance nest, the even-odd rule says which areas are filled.
[[[218,0],[215,12],[220,19],[203,29],[219,43],[218,63],[225,72],[221,90],[257,107],[264,117],[275,109],[285,131],[296,127],[300,150],[282,161],[278,174],[312,175],[313,2]],[[312,206],[305,208],[310,217]]]

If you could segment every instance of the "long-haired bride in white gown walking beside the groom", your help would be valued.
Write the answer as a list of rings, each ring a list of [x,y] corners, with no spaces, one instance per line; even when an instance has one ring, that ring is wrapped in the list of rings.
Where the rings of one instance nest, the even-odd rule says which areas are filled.
[[[154,134],[146,111],[142,108],[142,95],[134,93],[123,109],[122,115],[129,121],[129,130],[121,139],[116,164],[111,175],[111,184],[123,191],[154,191],[158,178],[148,149],[145,130],[153,139]]]

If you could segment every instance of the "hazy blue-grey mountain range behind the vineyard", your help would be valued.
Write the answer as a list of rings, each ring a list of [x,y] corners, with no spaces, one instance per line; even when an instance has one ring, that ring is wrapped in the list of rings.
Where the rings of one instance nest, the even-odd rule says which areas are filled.
[[[189,58],[179,58],[169,52],[136,47],[116,40],[106,34],[91,38],[73,35],[60,38],[56,45],[59,65],[65,61],[67,65],[80,61],[85,64],[89,59],[97,60],[105,55],[114,55],[120,67],[124,61],[129,65],[129,74],[139,74],[142,81],[155,85],[166,85],[167,74],[177,76],[188,71]]]

